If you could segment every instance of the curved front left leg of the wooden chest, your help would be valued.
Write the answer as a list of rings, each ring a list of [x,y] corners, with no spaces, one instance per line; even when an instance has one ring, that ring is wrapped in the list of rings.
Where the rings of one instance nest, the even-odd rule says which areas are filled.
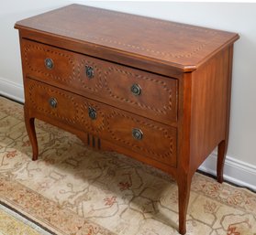
[[[38,160],[38,157],[39,157],[39,146],[38,146],[36,129],[35,129],[35,118],[29,117],[28,110],[26,109],[26,107],[24,107],[24,118],[25,118],[28,138],[32,145],[32,152],[33,152],[32,160],[36,161]]]

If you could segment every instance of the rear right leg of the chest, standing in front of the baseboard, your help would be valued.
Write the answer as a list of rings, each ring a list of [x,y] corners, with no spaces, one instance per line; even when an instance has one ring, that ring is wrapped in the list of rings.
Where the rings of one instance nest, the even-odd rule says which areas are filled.
[[[221,141],[217,146],[217,182],[223,182],[223,169],[227,154],[227,142]]]

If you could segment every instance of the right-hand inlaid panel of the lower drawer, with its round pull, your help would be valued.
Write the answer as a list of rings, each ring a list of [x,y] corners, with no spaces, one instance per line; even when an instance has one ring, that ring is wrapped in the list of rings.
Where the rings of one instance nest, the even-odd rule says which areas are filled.
[[[112,143],[176,166],[175,128],[114,109],[106,114],[106,131]]]

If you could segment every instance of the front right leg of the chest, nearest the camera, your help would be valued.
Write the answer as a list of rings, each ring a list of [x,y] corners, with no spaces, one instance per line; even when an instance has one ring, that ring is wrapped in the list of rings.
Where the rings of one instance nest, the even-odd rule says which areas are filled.
[[[186,233],[186,213],[189,202],[192,176],[180,176],[178,179],[179,190],[179,232]]]

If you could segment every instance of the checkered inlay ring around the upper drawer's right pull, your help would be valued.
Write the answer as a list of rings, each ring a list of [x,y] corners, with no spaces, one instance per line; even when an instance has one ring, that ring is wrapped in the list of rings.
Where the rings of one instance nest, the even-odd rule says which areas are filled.
[[[117,73],[124,74],[128,78],[129,77],[137,78],[138,82],[139,82],[139,80],[147,80],[148,82],[154,82],[157,84],[161,84],[161,92],[165,91],[166,93],[168,93],[169,103],[165,104],[163,101],[161,101],[162,102],[161,106],[156,107],[156,106],[150,105],[151,101],[149,101],[150,104],[147,104],[144,102],[139,102],[138,100],[137,101],[129,100],[127,94],[124,94],[123,97],[118,96],[116,94],[117,92],[112,91],[111,88],[109,87],[108,79],[111,79],[111,72],[113,72],[113,71],[116,71]],[[106,88],[106,91],[108,91],[108,93],[112,99],[117,100],[117,101],[127,102],[130,105],[139,106],[139,108],[150,110],[151,112],[159,112],[160,114],[167,114],[167,111],[172,112],[174,110],[173,109],[173,93],[174,93],[174,97],[175,97],[175,91],[173,91],[171,87],[168,87],[166,82],[163,80],[157,80],[157,79],[153,79],[150,77],[142,76],[140,74],[135,74],[135,73],[130,72],[125,69],[118,69],[118,67],[108,67],[108,69],[106,71],[106,76],[105,76],[105,88]],[[148,95],[153,96],[152,95],[153,91],[146,91],[146,92],[149,92]]]

